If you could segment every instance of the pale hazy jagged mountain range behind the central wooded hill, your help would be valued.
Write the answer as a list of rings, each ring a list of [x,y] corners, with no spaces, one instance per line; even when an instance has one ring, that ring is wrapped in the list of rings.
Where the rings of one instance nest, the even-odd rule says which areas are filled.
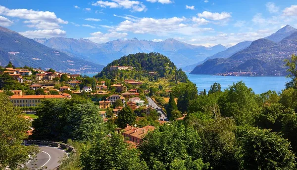
[[[128,40],[113,40],[103,44],[97,44],[86,39],[73,38],[50,38],[44,45],[62,51],[70,56],[83,58],[85,60],[108,64],[122,56],[139,52],[158,52],[166,55],[177,67],[187,66],[206,57],[226,49],[223,45],[204,47],[187,44],[173,38],[160,42],[139,40],[132,38]]]

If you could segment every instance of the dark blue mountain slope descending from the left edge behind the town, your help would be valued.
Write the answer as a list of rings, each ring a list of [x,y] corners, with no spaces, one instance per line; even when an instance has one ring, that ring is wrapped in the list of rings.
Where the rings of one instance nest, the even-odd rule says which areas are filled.
[[[33,39],[0,27],[0,65],[11,61],[16,67],[53,68],[67,72],[95,72],[103,66],[70,57]]]

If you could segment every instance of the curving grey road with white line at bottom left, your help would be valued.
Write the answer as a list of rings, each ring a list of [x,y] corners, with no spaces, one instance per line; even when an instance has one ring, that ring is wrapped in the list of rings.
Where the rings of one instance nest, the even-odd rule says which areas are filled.
[[[66,154],[63,150],[50,146],[39,146],[39,149],[41,152],[37,154],[36,165],[32,165],[32,160],[26,164],[29,170],[37,170],[43,167],[47,167],[46,170],[52,170],[60,165],[59,160]]]

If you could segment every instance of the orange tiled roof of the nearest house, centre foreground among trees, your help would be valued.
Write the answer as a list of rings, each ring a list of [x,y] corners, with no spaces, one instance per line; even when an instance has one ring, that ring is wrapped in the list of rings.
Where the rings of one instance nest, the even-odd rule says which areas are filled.
[[[155,127],[150,126],[150,125],[145,126],[143,128],[135,128],[133,126],[128,126],[124,129],[123,134],[130,135],[130,136],[137,137],[137,138],[141,139],[146,134],[148,134],[148,131],[153,131],[154,129],[155,129]]]

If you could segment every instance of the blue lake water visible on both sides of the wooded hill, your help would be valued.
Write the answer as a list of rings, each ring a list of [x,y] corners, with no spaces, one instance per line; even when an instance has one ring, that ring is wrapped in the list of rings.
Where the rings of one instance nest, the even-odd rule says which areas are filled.
[[[94,76],[97,73],[86,73],[87,76]],[[84,75],[84,74],[83,74]],[[238,81],[244,81],[247,87],[252,88],[256,94],[274,90],[280,92],[285,88],[285,84],[290,79],[281,76],[259,76],[259,77],[242,77],[242,76],[219,76],[219,75],[194,75],[187,72],[188,78],[196,84],[198,91],[206,89],[208,91],[213,83],[220,83],[221,88],[226,89],[229,85]]]

